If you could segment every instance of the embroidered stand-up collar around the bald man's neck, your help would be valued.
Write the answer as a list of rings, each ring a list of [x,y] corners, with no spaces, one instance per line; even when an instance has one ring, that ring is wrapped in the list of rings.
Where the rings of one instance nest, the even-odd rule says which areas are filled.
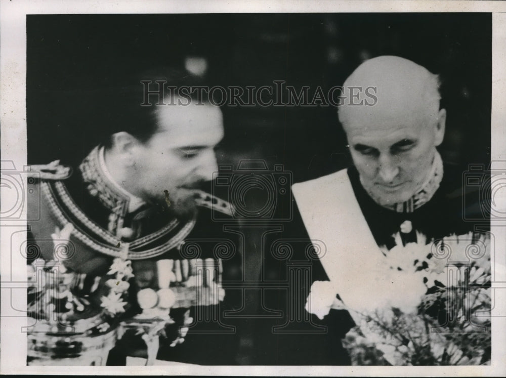
[[[436,151],[434,155],[434,159],[432,161],[432,167],[427,175],[425,182],[420,186],[420,188],[409,198],[407,201],[393,203],[391,205],[385,205],[379,203],[370,193],[369,196],[379,204],[385,208],[393,210],[397,213],[412,213],[420,206],[429,202],[431,198],[434,196],[436,191],[441,184],[441,180],[443,179],[443,160],[441,159],[441,155],[438,151]]]

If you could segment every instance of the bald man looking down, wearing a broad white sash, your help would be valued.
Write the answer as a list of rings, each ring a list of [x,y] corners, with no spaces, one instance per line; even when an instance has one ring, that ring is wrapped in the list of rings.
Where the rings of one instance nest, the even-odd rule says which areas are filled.
[[[386,286],[375,282],[384,281],[388,273],[377,269],[385,251],[416,242],[420,234],[429,242],[475,231],[475,224],[462,220],[462,171],[444,165],[436,149],[443,141],[446,121],[438,76],[407,59],[381,56],[360,65],[343,88],[339,120],[353,166],[292,187],[297,203],[294,219],[277,237],[291,244],[293,253],[287,262],[304,262],[310,268],[305,278],[290,282],[296,290],[288,291],[286,302],[284,292],[266,295],[264,307],[284,311],[291,320],[277,324],[284,322],[284,329],[291,326],[292,333],[283,334],[282,327],[273,325],[262,334],[263,340],[269,340],[261,353],[264,362],[357,363],[357,356],[350,359],[341,339],[359,323],[357,311],[374,311],[384,302],[387,293],[381,287],[389,287],[388,282]],[[377,98],[373,104],[371,88]],[[478,209],[477,201],[475,205]],[[308,245],[301,250],[301,240],[317,252],[308,254]],[[417,263],[424,259],[427,253]],[[264,279],[289,281],[286,272],[291,268],[279,260],[267,254]],[[317,284],[325,289],[316,292],[315,281],[327,282]],[[401,287],[410,287],[405,283]],[[419,284],[423,285],[421,278]],[[310,301],[313,291],[316,297]],[[409,289],[396,295],[409,302]],[[427,315],[441,316],[441,312]],[[278,350],[289,351],[285,355],[290,357]],[[396,364],[388,359],[386,363]]]

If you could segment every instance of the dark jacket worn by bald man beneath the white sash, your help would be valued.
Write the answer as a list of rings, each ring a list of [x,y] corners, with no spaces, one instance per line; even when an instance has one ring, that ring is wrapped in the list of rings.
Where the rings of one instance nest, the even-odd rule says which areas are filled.
[[[486,183],[486,172],[482,175],[482,182]],[[415,241],[416,231],[429,239],[453,233],[488,231],[487,201],[482,198],[484,186],[462,185],[465,176],[463,170],[445,166],[442,182],[432,199],[406,214],[376,204],[360,184],[356,169],[348,170],[354,194],[376,243],[388,249],[395,245],[392,235],[398,233],[400,225],[407,220],[413,228],[403,234],[404,243]],[[320,320],[304,309],[312,283],[328,280],[320,261],[311,253],[311,244],[294,201],[292,220],[283,224],[282,231],[265,236],[260,278],[260,285],[265,288],[255,334],[258,364],[350,364],[341,342],[355,325],[348,311],[331,309]],[[364,276],[364,282],[366,279]]]

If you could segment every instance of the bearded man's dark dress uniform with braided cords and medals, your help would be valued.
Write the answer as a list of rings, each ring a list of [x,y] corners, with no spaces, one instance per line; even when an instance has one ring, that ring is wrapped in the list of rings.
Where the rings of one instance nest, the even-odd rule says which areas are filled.
[[[150,306],[145,303],[150,296],[143,296],[143,291],[152,294],[170,288],[170,316],[186,319],[184,338],[160,338],[158,359],[235,363],[237,327],[224,313],[238,306],[240,292],[224,289],[222,283],[240,281],[240,247],[234,234],[212,221],[213,212],[231,216],[229,203],[198,191],[195,211],[176,217],[167,205],[146,203],[117,185],[103,154],[104,148],[96,147],[73,173],[58,161],[32,166],[33,177],[39,180],[31,181],[34,195],[28,212],[39,212],[40,217],[29,222],[29,242],[51,240],[55,230],[71,224],[69,247],[60,259],[79,275],[79,288],[90,292],[90,302],[114,259],[131,261],[134,278],[124,317]],[[31,257],[50,261],[54,255],[53,248],[41,247],[40,256]],[[124,364],[127,355],[146,357],[146,345],[135,333],[125,332],[108,364]]]

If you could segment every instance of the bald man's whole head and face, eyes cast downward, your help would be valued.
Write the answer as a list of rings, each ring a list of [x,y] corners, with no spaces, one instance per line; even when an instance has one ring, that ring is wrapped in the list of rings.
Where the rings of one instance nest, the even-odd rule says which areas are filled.
[[[345,81],[339,119],[362,186],[376,202],[404,202],[427,181],[445,129],[438,87],[437,75],[394,56],[364,62]]]

